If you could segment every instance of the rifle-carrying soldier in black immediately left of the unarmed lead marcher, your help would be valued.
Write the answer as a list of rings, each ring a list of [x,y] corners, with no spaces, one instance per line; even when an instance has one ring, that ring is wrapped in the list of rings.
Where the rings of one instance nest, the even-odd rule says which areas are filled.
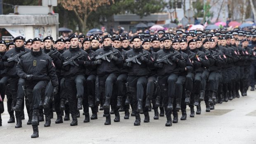
[[[22,36],[18,36],[14,38],[15,48],[8,50],[2,60],[4,61],[4,66],[7,69],[7,75],[9,76],[8,83],[10,85],[10,90],[12,93],[12,109],[14,109],[15,104],[17,104],[17,108],[15,109],[15,116],[17,125],[16,128],[22,127],[21,116],[24,113],[24,92],[22,86],[24,86],[24,79],[19,78],[17,75],[17,62],[16,61],[7,61],[8,58],[12,58],[15,55],[21,52],[30,52],[29,49],[24,48],[24,38]],[[25,53],[24,53],[25,54]],[[22,105],[22,108],[19,107]]]

